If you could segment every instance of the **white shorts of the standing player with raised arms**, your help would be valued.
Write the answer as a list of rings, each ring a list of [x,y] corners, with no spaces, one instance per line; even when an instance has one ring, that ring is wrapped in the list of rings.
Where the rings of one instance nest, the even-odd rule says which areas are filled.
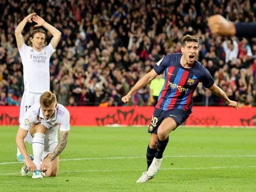
[[[41,93],[31,93],[27,90],[24,91],[20,103],[20,122],[22,121],[27,109],[36,102],[39,102],[40,96]]]

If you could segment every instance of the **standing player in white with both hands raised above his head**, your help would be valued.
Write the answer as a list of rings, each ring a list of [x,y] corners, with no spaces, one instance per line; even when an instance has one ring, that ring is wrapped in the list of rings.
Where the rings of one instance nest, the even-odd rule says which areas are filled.
[[[25,44],[22,30],[27,22],[35,22],[34,27],[44,27],[48,30],[53,35],[51,42],[46,46],[46,31],[43,28],[35,28],[28,45]],[[36,13],[32,13],[17,25],[15,38],[23,65],[24,93],[20,104],[20,120],[22,120],[27,109],[38,102],[44,91],[49,90],[49,59],[61,39],[61,31],[45,22]],[[17,149],[17,160],[24,161],[19,149]]]

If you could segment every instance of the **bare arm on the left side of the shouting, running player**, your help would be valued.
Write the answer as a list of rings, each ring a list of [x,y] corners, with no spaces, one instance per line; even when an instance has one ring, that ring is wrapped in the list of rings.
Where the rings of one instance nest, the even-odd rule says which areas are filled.
[[[139,81],[137,81],[137,83],[135,83],[134,87],[129,91],[129,93],[127,93],[126,96],[122,97],[122,102],[128,103],[130,101],[130,98],[132,97],[132,94],[136,93],[136,91],[140,90],[148,83],[150,83],[150,81],[153,80],[157,75],[158,74],[155,72],[154,69],[146,73]]]

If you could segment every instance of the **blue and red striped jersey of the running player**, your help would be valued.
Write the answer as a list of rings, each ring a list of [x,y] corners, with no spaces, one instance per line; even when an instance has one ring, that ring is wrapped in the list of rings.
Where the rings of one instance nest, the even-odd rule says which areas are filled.
[[[158,75],[165,72],[164,85],[156,104],[156,108],[163,111],[191,111],[192,96],[198,83],[202,82],[205,88],[210,88],[214,83],[210,72],[197,60],[191,69],[182,67],[181,56],[181,53],[169,54],[153,68]]]

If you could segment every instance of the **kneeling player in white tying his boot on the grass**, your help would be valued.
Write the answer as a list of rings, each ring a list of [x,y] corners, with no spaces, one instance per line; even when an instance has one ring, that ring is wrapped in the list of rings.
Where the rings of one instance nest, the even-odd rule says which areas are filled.
[[[16,144],[25,159],[21,175],[28,175],[30,171],[32,178],[57,176],[59,154],[66,148],[69,136],[69,121],[69,111],[57,103],[51,91],[45,91],[40,96],[40,103],[28,108],[16,135]],[[32,144],[34,161],[28,155],[25,141]]]

